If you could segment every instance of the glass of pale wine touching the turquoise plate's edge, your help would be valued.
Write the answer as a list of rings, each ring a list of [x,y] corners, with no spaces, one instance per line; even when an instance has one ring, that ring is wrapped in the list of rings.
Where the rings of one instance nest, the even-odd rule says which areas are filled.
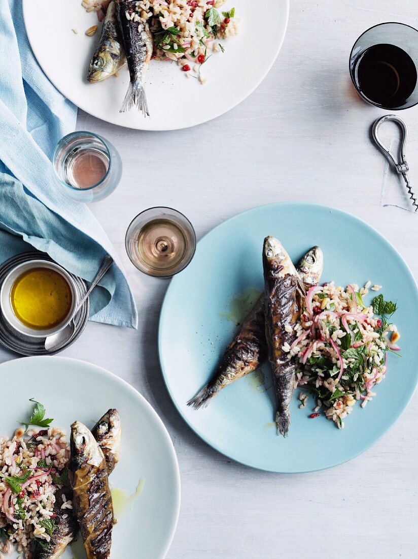
[[[177,210],[153,207],[128,227],[125,247],[134,266],[155,277],[171,277],[193,258],[196,236],[190,221]]]

